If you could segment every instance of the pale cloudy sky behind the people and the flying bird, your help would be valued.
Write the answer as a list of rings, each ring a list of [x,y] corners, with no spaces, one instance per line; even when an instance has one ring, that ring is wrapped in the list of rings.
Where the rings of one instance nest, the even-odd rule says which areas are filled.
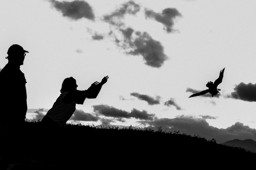
[[[0,69],[12,44],[29,51],[27,119],[42,119],[65,78],[86,90],[108,75],[68,122],[256,140],[255,11],[253,0],[1,0]],[[223,68],[221,94],[188,98]]]

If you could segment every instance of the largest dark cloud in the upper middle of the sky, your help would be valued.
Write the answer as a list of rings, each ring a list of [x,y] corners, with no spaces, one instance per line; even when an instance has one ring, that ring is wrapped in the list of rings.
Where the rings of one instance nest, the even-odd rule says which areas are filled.
[[[164,61],[168,59],[162,44],[154,40],[147,32],[137,31],[135,35],[134,40],[125,41],[125,44],[132,48],[127,54],[142,55],[146,65],[156,68],[161,67]]]

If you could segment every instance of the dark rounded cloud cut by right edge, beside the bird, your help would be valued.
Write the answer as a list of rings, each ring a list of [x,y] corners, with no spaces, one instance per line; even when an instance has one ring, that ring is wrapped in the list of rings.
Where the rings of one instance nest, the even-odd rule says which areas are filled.
[[[236,85],[234,92],[228,95],[227,98],[235,98],[243,101],[256,101],[256,84],[241,82]]]

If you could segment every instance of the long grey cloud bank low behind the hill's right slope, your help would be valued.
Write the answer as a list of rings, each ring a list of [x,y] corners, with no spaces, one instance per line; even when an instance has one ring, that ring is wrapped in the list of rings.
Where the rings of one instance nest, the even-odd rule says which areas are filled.
[[[240,122],[236,122],[234,125],[227,127],[226,129],[219,129],[217,127],[210,126],[208,122],[206,122],[206,119],[182,115],[173,119],[162,118],[155,119],[154,121],[138,121],[138,123],[149,126],[149,128],[155,130],[157,130],[158,127],[162,127],[162,129],[166,129],[167,131],[175,130],[180,133],[200,135],[208,140],[214,138],[218,143],[223,143],[233,139],[256,140],[256,129],[244,126],[244,124]]]

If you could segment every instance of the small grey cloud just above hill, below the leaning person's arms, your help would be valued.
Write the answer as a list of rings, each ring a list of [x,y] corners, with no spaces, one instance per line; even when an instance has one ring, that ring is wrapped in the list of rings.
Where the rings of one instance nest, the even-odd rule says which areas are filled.
[[[93,116],[92,114],[85,113],[82,110],[76,109],[69,120],[97,122],[99,120],[99,117],[98,116]]]

